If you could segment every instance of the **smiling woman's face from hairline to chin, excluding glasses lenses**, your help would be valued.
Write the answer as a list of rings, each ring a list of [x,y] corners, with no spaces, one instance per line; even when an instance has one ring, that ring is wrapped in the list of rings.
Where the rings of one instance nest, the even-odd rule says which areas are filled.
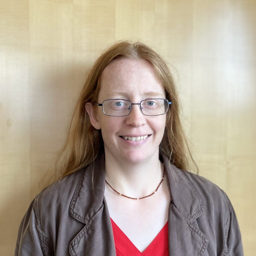
[[[152,98],[165,99],[165,90],[147,60],[122,58],[112,61],[103,70],[98,103],[108,99],[140,103]],[[132,105],[129,115],[116,117],[104,115],[101,107],[97,108],[98,128],[102,132],[106,155],[132,163],[147,161],[153,156],[158,159],[166,114],[146,116],[142,114],[140,105]],[[146,135],[139,141],[123,138]]]

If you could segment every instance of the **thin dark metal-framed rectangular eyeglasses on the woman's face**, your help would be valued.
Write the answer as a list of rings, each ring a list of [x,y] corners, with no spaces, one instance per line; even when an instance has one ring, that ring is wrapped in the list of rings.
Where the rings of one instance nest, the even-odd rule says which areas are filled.
[[[171,101],[166,99],[148,99],[140,103],[132,103],[129,100],[111,99],[104,100],[102,104],[94,103],[94,105],[102,106],[102,111],[109,116],[126,116],[129,115],[132,105],[140,105],[140,110],[143,115],[163,115],[166,114]]]

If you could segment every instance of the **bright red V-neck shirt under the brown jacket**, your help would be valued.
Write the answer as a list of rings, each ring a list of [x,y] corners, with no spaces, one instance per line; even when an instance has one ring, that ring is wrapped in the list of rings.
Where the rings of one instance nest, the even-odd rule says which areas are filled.
[[[114,235],[116,256],[169,256],[168,221],[144,252],[140,252],[135,247],[131,240],[112,219],[111,224]]]

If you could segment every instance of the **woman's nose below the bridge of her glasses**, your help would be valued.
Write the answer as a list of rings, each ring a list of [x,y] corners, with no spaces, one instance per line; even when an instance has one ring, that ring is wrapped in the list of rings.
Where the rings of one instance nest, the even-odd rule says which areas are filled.
[[[141,106],[134,104],[129,115],[126,116],[125,124],[134,127],[140,127],[146,124],[146,116],[141,112]]]

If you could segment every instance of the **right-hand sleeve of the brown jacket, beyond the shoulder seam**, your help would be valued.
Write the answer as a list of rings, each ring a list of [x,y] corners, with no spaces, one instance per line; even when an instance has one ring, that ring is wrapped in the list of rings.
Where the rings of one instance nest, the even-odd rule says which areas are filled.
[[[224,191],[223,191],[224,192]],[[227,208],[228,208],[228,218],[226,222],[226,239],[227,239],[227,247],[228,247],[228,256],[243,256],[243,245],[242,245],[242,238],[241,233],[236,217],[236,213],[234,208],[224,192],[224,195],[227,198]]]

